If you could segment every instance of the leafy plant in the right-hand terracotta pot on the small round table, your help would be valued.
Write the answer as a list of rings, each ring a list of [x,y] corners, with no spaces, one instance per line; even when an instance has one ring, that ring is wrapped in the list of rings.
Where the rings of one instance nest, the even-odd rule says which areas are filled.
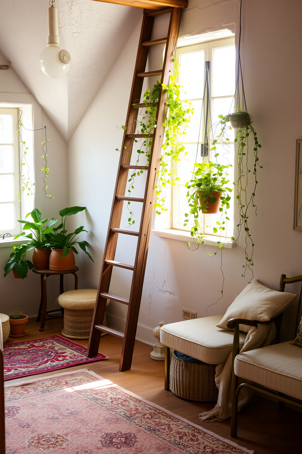
[[[74,232],[68,233],[65,224],[67,216],[72,216],[80,211],[85,210],[86,207],[67,207],[59,212],[62,218],[61,224],[53,228],[49,236],[49,243],[52,248],[52,252],[49,257],[49,269],[52,271],[68,271],[73,270],[76,266],[74,253],[78,253],[75,245],[78,244],[82,251],[84,251],[88,257],[92,260],[89,252],[86,251],[86,241],[78,241],[76,236],[80,232],[87,232],[84,226],[78,227]],[[58,232],[62,229],[60,232]]]

